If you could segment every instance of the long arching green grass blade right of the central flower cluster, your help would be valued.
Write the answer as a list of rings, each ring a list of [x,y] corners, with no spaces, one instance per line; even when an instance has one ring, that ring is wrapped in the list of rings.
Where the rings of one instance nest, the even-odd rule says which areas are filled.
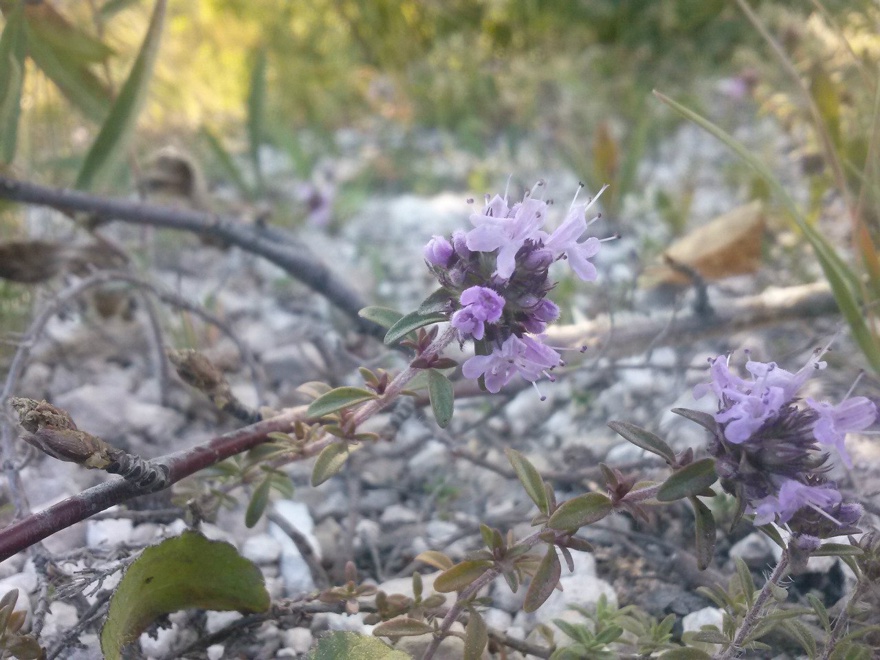
[[[747,150],[743,143],[738,142],[737,139],[730,136],[730,134],[722,130],[722,128],[715,126],[711,121],[694,113],[693,110],[689,110],[685,106],[676,103],[660,92],[656,92],[656,90],[654,95],[657,99],[660,99],[667,106],[670,106],[675,110],[675,112],[685,117],[687,120],[693,121],[693,123],[697,124],[700,128],[703,128],[708,131],[708,133],[717,137],[730,150],[736,153],[739,158],[742,158],[747,165],[750,165],[755,172],[758,172],[759,176],[766,181],[775,197],[786,209],[788,216],[791,217],[798,229],[803,232],[804,237],[810,242],[813,252],[816,253],[819,265],[822,267],[822,272],[825,274],[825,279],[831,286],[834,301],[840,308],[840,312],[843,314],[844,318],[847,319],[847,325],[850,327],[856,343],[859,345],[859,348],[861,348],[864,356],[868,359],[871,368],[877,373],[880,373],[880,342],[876,341],[874,335],[871,333],[864,314],[862,313],[862,307],[859,304],[861,295],[861,283],[859,282],[859,278],[854,274],[852,269],[847,267],[847,264],[840,258],[840,255],[834,250],[831,244],[825,240],[822,234],[806,221],[803,214],[797,208],[795,201],[782,186],[781,181],[774,176],[774,173],[770,171],[770,168]]]

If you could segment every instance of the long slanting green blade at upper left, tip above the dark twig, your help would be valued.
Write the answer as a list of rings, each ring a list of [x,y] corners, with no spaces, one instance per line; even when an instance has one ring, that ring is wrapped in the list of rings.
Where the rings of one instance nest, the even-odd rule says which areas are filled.
[[[113,106],[92,147],[85,155],[82,168],[77,176],[76,187],[90,190],[100,185],[112,172],[120,152],[125,149],[129,138],[134,132],[137,115],[141,111],[150,87],[153,64],[162,38],[162,26],[165,21],[165,0],[156,0],[156,6],[150,17],[150,26],[143,38],[141,50],[135,63],[128,72],[128,78],[122,84],[119,96]]]

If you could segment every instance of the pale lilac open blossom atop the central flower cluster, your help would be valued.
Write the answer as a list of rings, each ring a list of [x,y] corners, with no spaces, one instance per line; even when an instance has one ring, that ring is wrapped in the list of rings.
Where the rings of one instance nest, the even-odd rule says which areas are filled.
[[[495,195],[483,213],[473,213],[471,222],[474,229],[467,232],[467,247],[474,252],[494,252],[498,250],[495,261],[495,275],[502,280],[510,279],[516,268],[517,252],[525,241],[534,238],[535,232],[544,224],[546,202],[526,197],[521,204],[514,205],[507,215],[496,216],[507,209],[507,204]]]

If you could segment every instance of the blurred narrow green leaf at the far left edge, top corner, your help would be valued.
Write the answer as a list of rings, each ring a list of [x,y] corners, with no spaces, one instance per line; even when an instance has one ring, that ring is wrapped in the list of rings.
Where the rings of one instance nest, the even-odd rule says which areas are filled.
[[[25,81],[26,31],[24,4],[7,15],[0,34],[0,165],[15,157],[21,87]]]

